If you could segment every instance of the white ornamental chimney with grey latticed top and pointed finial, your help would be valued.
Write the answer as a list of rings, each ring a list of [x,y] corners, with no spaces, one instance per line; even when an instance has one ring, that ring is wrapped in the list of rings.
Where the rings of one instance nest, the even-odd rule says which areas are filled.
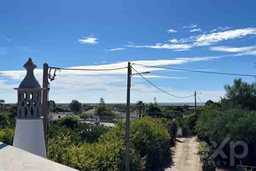
[[[34,76],[37,67],[29,58],[23,65],[27,75],[18,88],[18,113],[13,146],[46,158],[43,117],[40,117],[42,88]]]

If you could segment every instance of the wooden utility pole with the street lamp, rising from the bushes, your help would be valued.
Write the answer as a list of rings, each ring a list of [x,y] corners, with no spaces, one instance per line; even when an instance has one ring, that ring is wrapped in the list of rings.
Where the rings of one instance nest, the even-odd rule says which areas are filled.
[[[126,158],[125,158],[125,171],[130,171],[130,159],[129,159],[129,139],[130,139],[130,81],[132,76],[132,70],[130,62],[128,62],[127,73],[127,101],[126,101]]]

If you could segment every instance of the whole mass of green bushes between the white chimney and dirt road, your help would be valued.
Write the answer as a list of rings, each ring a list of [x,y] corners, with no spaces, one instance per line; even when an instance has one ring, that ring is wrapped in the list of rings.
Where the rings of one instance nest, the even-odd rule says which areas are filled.
[[[172,137],[165,128],[166,122],[151,117],[131,121],[131,170],[151,170],[170,157]],[[60,120],[50,124],[49,159],[82,171],[124,170],[124,121],[119,120],[116,127],[109,130],[100,125],[80,122],[78,125],[71,124],[74,125],[72,130],[73,126],[68,127],[64,123]]]

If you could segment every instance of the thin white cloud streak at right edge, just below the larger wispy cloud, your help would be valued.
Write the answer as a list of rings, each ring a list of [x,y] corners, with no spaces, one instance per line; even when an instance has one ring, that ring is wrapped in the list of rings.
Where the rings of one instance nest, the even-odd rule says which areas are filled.
[[[220,52],[248,52],[251,50],[256,50],[256,46],[247,46],[247,47],[228,47],[228,46],[217,46],[211,47],[212,51],[220,51]]]

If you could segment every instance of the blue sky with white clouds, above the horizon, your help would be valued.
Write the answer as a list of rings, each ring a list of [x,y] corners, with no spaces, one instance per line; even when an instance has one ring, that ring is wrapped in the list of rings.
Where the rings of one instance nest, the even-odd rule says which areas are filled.
[[[255,74],[255,1],[3,1],[0,7],[0,98],[13,90],[28,57],[42,66],[114,68],[128,61],[154,66]],[[193,91],[224,96],[236,76],[152,70],[135,66],[155,85],[177,96]],[[126,70],[61,71],[50,82],[57,102],[126,101]],[[255,78],[242,77],[254,82]],[[132,78],[131,101],[193,102],[170,97]],[[218,97],[199,95],[202,101]],[[199,101],[199,100],[198,100]]]

